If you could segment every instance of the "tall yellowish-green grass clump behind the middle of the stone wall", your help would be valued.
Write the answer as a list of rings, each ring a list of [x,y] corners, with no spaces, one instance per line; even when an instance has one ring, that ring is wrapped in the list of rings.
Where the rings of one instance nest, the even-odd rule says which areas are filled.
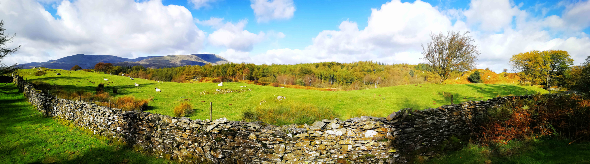
[[[245,121],[262,121],[273,125],[311,124],[322,119],[339,117],[331,108],[314,106],[309,103],[281,103],[278,106],[258,106],[242,113]]]

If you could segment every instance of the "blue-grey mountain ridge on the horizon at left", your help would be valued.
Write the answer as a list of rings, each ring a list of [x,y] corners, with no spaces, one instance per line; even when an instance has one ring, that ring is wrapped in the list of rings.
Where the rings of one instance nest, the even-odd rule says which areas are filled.
[[[165,68],[183,65],[212,65],[228,63],[227,59],[215,54],[192,54],[192,55],[169,55],[169,56],[146,56],[135,59],[121,58],[112,55],[84,55],[76,54],[66,56],[57,60],[50,60],[47,62],[31,62],[25,65],[23,69],[30,69],[33,67],[45,67],[51,69],[70,69],[74,65],[79,65],[83,69],[94,68],[96,63],[113,63],[117,66],[135,66],[142,65],[149,68]],[[18,66],[21,66],[18,65]]]

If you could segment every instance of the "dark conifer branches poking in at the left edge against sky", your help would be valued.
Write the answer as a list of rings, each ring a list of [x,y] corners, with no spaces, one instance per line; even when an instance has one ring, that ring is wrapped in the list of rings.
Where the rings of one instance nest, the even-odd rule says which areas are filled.
[[[12,42],[12,38],[14,38],[16,34],[9,36],[8,34],[4,34],[4,31],[6,31],[6,29],[4,28],[4,20],[2,20],[0,21],[0,75],[17,72],[18,69],[21,69],[22,66],[24,66],[17,66],[18,63],[15,63],[14,65],[6,65],[5,63],[2,63],[2,60],[4,60],[6,56],[18,52],[18,49],[21,48],[20,45],[17,46],[17,48],[12,49],[6,47],[6,43]]]

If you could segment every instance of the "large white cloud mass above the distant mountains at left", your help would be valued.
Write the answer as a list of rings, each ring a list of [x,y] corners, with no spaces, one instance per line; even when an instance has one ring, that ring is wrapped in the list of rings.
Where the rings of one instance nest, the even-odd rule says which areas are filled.
[[[135,58],[202,49],[205,33],[183,6],[161,1],[61,1],[54,18],[37,1],[2,1],[0,18],[21,51],[8,62],[45,62],[77,53]]]

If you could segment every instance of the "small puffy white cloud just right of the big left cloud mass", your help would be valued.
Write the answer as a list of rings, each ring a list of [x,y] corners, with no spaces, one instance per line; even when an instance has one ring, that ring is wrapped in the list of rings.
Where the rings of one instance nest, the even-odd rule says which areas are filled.
[[[209,21],[211,20],[215,19],[212,18]],[[253,34],[247,30],[244,30],[244,26],[247,23],[247,20],[242,20],[237,24],[226,22],[225,25],[222,26],[214,25],[214,28],[217,26],[218,29],[217,31],[209,34],[208,41],[212,45],[225,46],[225,48],[234,49],[236,51],[252,51],[254,44],[264,40],[265,34],[264,32]]]

